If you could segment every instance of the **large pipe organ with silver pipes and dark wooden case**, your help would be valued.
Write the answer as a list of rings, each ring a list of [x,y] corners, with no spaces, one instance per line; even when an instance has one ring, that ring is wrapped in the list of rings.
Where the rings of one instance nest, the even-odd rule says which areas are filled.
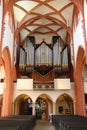
[[[34,39],[27,37],[24,48],[20,47],[19,68],[26,70],[26,73],[37,71],[46,75],[53,70],[58,73],[68,69],[68,64],[68,47],[61,45],[59,36],[54,37],[53,44],[45,41],[35,44]]]

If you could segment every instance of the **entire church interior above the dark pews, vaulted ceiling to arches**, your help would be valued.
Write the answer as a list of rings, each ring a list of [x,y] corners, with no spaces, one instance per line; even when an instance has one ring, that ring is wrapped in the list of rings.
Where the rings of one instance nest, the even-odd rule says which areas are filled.
[[[87,116],[87,0],[0,0],[0,117]]]

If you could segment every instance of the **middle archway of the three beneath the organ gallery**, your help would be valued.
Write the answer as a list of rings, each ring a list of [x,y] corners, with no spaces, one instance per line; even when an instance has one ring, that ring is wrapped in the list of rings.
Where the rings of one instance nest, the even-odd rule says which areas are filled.
[[[47,94],[41,94],[36,99],[35,113],[37,119],[48,120],[53,111],[53,101]]]

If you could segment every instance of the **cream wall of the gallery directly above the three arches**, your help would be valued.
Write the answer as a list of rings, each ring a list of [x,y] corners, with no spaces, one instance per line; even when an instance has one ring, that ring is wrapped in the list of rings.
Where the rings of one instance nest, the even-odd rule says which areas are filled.
[[[46,94],[53,102],[56,102],[58,97],[64,93],[68,94],[72,99],[74,100],[74,84],[71,83],[71,89],[68,90],[18,90],[17,89],[17,83],[14,84],[14,91],[13,91],[13,101],[21,94],[29,95],[29,97],[32,99],[33,102],[36,101],[36,99],[42,95]]]

